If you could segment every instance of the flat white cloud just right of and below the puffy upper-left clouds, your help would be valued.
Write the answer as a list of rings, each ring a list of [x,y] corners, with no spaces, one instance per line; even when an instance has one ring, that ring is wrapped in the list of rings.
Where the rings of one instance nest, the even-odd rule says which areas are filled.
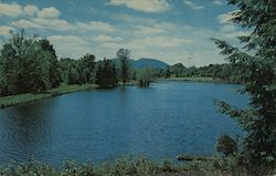
[[[115,31],[115,27],[103,21],[89,21],[86,23],[77,22],[76,27],[83,31],[93,31],[93,30],[107,31],[107,32]]]

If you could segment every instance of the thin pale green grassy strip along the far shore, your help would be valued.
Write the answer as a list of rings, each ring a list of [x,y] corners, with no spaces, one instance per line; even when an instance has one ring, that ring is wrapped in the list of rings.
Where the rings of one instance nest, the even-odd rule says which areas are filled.
[[[226,81],[224,81],[224,80],[213,79],[213,77],[206,77],[206,76],[169,77],[169,79],[158,79],[157,81],[194,81],[194,82],[226,83]]]

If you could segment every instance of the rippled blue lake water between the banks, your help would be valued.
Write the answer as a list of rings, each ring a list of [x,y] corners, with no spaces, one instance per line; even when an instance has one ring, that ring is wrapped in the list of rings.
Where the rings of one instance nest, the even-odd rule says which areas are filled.
[[[241,135],[217,113],[213,99],[246,107],[241,85],[158,82],[91,90],[0,110],[0,164],[30,157],[60,165],[66,159],[112,161],[125,155],[176,159],[211,155],[221,134]]]

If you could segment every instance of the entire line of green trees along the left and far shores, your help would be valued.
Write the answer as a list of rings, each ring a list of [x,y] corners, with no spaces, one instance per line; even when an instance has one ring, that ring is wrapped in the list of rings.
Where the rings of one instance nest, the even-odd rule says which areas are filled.
[[[125,86],[129,80],[141,87],[149,86],[157,77],[212,76],[231,82],[240,82],[237,72],[242,68],[233,64],[210,64],[202,68],[185,68],[177,63],[167,69],[132,69],[129,64],[130,50],[116,52],[114,60],[96,61],[94,54],[85,54],[78,60],[57,60],[53,45],[46,39],[24,35],[24,31],[11,32],[11,39],[0,51],[0,95],[28,92],[43,92],[66,84],[98,84],[115,87],[118,82]]]

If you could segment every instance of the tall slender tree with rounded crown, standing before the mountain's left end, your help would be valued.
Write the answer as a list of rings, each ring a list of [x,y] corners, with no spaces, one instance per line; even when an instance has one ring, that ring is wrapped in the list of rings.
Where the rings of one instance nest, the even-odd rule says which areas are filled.
[[[129,75],[128,75],[129,62],[128,62],[128,60],[129,60],[129,55],[130,55],[130,50],[119,49],[116,54],[120,61],[120,76],[121,76],[123,85],[125,86],[125,83],[129,79]]]

